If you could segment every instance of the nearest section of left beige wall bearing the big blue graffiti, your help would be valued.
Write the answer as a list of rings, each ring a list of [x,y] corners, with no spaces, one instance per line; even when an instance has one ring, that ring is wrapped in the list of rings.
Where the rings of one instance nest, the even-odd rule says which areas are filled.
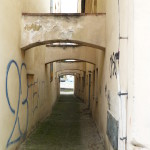
[[[23,63],[23,54],[20,50],[21,2],[2,0],[0,18],[0,149],[6,149],[7,147],[14,149],[16,144],[14,146],[11,142],[20,137],[18,115],[22,114],[19,118],[20,122],[24,121],[24,124],[20,125],[23,131],[27,124],[27,103],[25,105],[21,103],[27,96],[27,85],[22,86],[22,93],[20,91],[21,82],[27,83],[26,76],[23,76],[23,73],[25,74],[24,67],[22,73],[20,73]],[[10,68],[8,67],[9,63],[13,63]],[[8,79],[6,79],[7,72]],[[20,81],[20,78],[23,81]],[[6,82],[8,88],[6,88]],[[18,108],[20,105],[22,105],[22,110]]]

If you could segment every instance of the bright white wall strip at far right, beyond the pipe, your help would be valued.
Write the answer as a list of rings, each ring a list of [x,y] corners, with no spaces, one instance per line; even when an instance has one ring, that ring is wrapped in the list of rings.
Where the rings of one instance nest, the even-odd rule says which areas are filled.
[[[134,101],[132,119],[132,144],[134,149],[150,149],[149,82],[150,71],[150,2],[134,3]]]

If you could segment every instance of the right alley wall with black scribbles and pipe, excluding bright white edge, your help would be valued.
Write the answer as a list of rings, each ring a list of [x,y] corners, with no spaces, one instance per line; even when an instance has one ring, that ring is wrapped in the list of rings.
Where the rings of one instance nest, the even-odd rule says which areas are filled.
[[[128,37],[128,2],[107,0],[97,2],[97,12],[106,11],[106,51],[104,54],[97,52],[96,70],[98,77],[95,77],[95,97],[92,114],[97,124],[99,132],[103,135],[105,149],[113,149],[107,136],[107,111],[116,120],[120,118],[120,98],[118,96],[119,86],[122,92],[128,92],[128,40],[119,40],[119,36]],[[106,6],[106,7],[105,7]],[[92,9],[92,8],[91,8]],[[90,9],[89,9],[90,10]],[[120,51],[119,61],[114,55]],[[130,62],[129,62],[130,63]],[[118,75],[119,73],[119,75]],[[119,78],[120,77],[120,78]],[[119,86],[118,86],[119,85]],[[122,97],[124,101],[124,114],[126,117],[127,96]],[[122,109],[122,108],[121,108]],[[126,123],[125,123],[126,124]],[[123,128],[119,125],[119,137]],[[119,148],[123,149],[123,143],[119,141]]]

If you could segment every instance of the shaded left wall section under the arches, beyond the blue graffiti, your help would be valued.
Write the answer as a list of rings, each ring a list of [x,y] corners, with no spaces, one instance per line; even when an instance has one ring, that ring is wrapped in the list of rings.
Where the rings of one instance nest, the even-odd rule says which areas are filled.
[[[34,52],[34,65],[32,65],[25,54],[27,62],[28,86],[29,86],[29,108],[32,111],[29,113],[29,131],[39,120],[43,120],[51,113],[53,104],[57,98],[57,84],[55,84],[55,73],[53,80],[50,81],[50,64],[45,65],[45,46],[40,46],[31,49]],[[28,52],[28,51],[27,51]],[[53,68],[55,72],[55,63]],[[28,71],[28,68],[31,68]],[[32,74],[30,74],[30,72]]]

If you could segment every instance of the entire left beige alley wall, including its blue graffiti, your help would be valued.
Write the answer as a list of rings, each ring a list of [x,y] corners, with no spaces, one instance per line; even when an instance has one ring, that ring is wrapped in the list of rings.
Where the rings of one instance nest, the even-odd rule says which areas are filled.
[[[26,54],[26,57],[30,58],[25,58],[25,53],[20,49],[22,11],[46,13],[48,9],[49,1],[1,1],[0,149],[2,150],[15,149],[36,123],[51,112],[56,98],[57,90],[55,91],[54,82],[49,82],[49,67],[45,68],[44,51],[41,53],[41,49],[34,49],[34,53],[31,50]],[[30,66],[26,64],[26,60],[29,60]],[[27,75],[27,70],[30,75]]]

